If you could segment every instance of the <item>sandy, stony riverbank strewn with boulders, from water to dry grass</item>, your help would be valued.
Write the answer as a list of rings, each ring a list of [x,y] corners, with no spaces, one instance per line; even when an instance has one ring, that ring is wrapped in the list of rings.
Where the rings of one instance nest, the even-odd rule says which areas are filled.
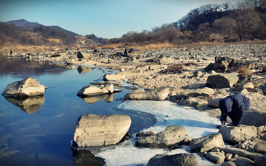
[[[179,105],[195,107],[197,110],[207,111],[210,116],[217,118],[220,116],[217,103],[221,98],[233,94],[245,95],[250,98],[251,106],[241,123],[241,127],[218,126],[219,132],[214,135],[197,139],[191,138],[185,142],[189,142],[192,150],[202,153],[215,164],[228,161],[227,164],[233,165],[229,163],[233,161],[235,165],[244,162],[248,162],[249,165],[263,165],[266,161],[266,131],[263,128],[266,123],[265,49],[266,44],[218,45],[149,51],[133,48],[126,48],[125,50],[118,48],[109,50],[66,48],[54,49],[46,53],[20,53],[17,55],[10,52],[6,56],[60,62],[69,67],[72,65],[94,65],[119,70],[119,75],[129,78],[128,83],[145,88],[141,92],[137,90],[137,94],[131,95],[132,97],[125,96],[125,100],[153,100],[150,97],[153,95],[147,95],[147,93],[153,94],[152,92],[156,91],[156,87],[167,87],[169,91],[167,91],[166,96],[162,95],[163,97],[156,98],[156,100],[170,100]],[[234,65],[243,63],[248,66],[249,76],[239,76],[236,71],[226,72],[226,70],[232,69]],[[168,72],[177,66],[181,67],[176,73]],[[208,71],[208,66],[211,66],[212,70]],[[219,73],[217,73],[218,71]],[[224,84],[224,82],[228,82],[228,84]],[[145,97],[140,99],[139,93],[145,94],[147,99]],[[230,119],[227,122],[230,123]],[[244,125],[242,126],[242,124]],[[181,126],[169,127],[173,128],[171,129],[172,132],[179,130]],[[185,131],[185,129],[182,130]],[[236,131],[231,132],[233,130]],[[161,132],[168,133],[169,131]],[[178,136],[177,141],[173,141],[176,138],[170,137],[170,140],[173,141],[171,144],[160,143],[158,140],[167,140],[166,134],[160,133],[140,139],[138,143],[136,142],[136,146],[158,148],[163,144],[164,148],[173,148],[177,143],[187,139],[184,139],[183,135],[185,134],[183,134]],[[160,137],[160,135],[164,137]],[[155,141],[156,144],[151,140],[157,140]],[[225,147],[224,144],[221,144],[223,141],[234,142],[234,145]],[[157,144],[158,147],[156,147]],[[183,156],[183,158],[190,157],[193,156]],[[160,165],[165,160],[169,162],[169,156],[162,154],[161,156],[154,156],[151,160],[148,165]],[[198,165],[198,163],[193,162],[193,165]]]

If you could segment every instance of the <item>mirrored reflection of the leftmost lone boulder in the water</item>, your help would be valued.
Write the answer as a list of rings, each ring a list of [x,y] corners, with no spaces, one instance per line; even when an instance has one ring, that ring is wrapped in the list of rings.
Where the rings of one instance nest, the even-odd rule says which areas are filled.
[[[44,103],[44,96],[32,96],[32,97],[4,97],[8,102],[21,108],[26,113],[35,113]]]

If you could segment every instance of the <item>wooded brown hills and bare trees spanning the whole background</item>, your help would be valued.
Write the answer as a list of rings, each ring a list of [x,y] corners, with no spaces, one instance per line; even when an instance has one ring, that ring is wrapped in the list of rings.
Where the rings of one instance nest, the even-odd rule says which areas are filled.
[[[25,23],[26,20],[22,19],[22,21]],[[129,31],[120,38],[110,40],[98,38],[94,34],[75,36],[76,33],[58,28],[58,26],[45,26],[38,22],[33,24],[22,28],[0,22],[0,47],[7,43],[9,45],[19,43],[39,46],[121,45],[124,47],[160,43],[170,43],[175,46],[214,41],[263,42],[266,40],[266,0],[201,5],[190,10],[176,22],[155,26],[151,30],[142,29],[141,32]]]

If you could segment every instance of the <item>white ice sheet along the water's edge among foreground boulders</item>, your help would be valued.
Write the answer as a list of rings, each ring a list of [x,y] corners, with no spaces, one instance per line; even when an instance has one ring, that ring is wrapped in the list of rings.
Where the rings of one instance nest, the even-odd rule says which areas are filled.
[[[147,100],[126,100],[117,107],[124,111],[141,111],[152,113],[158,120],[158,123],[146,128],[142,131],[155,130],[157,133],[165,130],[167,126],[183,126],[187,131],[187,136],[192,138],[199,138],[209,134],[217,133],[216,125],[220,123],[218,118],[210,117],[207,112],[195,110],[191,107],[184,107],[169,101],[147,101]],[[166,115],[170,115],[167,117]],[[168,149],[149,149],[139,148],[135,146],[136,134],[133,133],[133,138],[129,139],[114,147],[102,149],[101,152],[95,156],[105,159],[106,165],[147,165],[151,157],[156,154],[177,154],[189,153],[189,146],[182,146],[181,149],[168,150]],[[201,165],[215,165],[214,163],[206,160],[197,153],[194,153],[198,162]]]

